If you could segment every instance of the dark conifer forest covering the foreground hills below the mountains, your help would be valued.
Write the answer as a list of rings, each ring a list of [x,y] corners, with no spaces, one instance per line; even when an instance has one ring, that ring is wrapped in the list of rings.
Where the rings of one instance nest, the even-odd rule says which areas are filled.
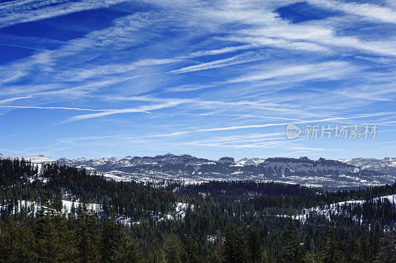
[[[392,202],[294,219],[304,208],[395,192],[395,184],[327,192],[249,181],[115,182],[1,159],[0,262],[396,262]],[[76,205],[67,211],[62,200]],[[188,204],[183,216],[176,202]]]

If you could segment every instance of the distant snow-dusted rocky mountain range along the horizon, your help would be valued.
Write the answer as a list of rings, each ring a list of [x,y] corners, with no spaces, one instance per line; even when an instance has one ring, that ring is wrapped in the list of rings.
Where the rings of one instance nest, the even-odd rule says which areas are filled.
[[[0,158],[6,158],[0,155]],[[199,182],[207,180],[256,180],[298,183],[316,187],[357,187],[394,183],[396,158],[383,160],[354,158],[346,160],[312,160],[301,158],[243,158],[219,160],[196,158],[190,155],[166,154],[155,157],[60,158],[39,155],[34,163],[57,161],[59,164],[98,171],[116,180],[175,180]]]

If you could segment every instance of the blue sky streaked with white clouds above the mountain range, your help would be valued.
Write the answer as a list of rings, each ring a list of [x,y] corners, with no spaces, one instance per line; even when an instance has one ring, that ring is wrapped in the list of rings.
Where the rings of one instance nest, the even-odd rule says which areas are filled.
[[[395,43],[394,0],[2,1],[0,153],[395,157]]]

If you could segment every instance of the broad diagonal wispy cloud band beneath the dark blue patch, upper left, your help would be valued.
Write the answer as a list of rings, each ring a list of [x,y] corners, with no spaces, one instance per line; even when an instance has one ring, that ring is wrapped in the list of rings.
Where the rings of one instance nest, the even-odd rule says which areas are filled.
[[[119,50],[128,46],[137,45],[139,40],[133,41],[130,39],[130,36],[133,34],[144,35],[139,30],[147,27],[157,19],[159,18],[155,12],[137,12],[132,15],[117,18],[113,21],[111,26],[90,32],[81,38],[69,40],[58,49],[44,50],[19,61],[7,64],[7,66],[2,66],[0,67],[0,76],[3,79],[3,83],[6,83],[4,80],[7,80],[7,82],[14,81],[26,76],[32,70],[34,71],[39,68],[41,69],[41,74],[50,72],[52,78],[54,78],[54,75],[56,76],[60,73],[60,78],[63,76],[63,80],[69,80],[70,74],[64,73],[63,71],[58,73],[53,70],[53,67],[58,66],[62,60],[67,58],[70,61],[67,72],[75,73],[75,69],[72,66],[73,64],[77,62],[84,63],[86,60],[92,60],[100,56],[100,52],[92,52],[92,49],[102,51],[111,47],[112,49]],[[89,52],[87,52],[87,50]],[[150,59],[147,59],[146,62],[148,60]],[[83,70],[84,68],[77,69],[77,71]],[[18,78],[12,78],[15,76],[15,71],[20,72],[18,73]]]

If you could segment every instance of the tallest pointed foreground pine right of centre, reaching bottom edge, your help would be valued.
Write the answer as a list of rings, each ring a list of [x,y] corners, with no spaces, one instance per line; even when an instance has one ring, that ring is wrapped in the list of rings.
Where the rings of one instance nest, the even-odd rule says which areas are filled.
[[[279,262],[301,262],[302,253],[300,248],[300,240],[297,236],[297,229],[293,222],[292,211],[290,211],[286,217],[286,225],[283,230],[282,241],[284,248],[281,255],[279,256]]]

